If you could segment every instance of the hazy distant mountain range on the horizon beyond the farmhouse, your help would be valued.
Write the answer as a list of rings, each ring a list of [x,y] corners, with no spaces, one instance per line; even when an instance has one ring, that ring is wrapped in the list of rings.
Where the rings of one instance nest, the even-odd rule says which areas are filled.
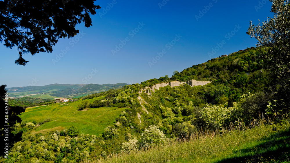
[[[116,89],[125,85],[128,84],[50,84],[45,86],[11,87],[6,88],[6,90],[8,90],[10,97],[23,97],[33,94],[47,94],[54,97],[75,97]]]

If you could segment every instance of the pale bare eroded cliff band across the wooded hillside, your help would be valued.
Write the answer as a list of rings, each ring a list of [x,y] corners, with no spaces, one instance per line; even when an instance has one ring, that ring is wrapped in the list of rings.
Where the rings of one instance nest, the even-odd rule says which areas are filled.
[[[197,86],[197,85],[206,85],[208,83],[211,83],[211,82],[209,82],[209,81],[196,81],[196,80],[189,80],[187,82],[171,81],[169,83],[158,83],[158,84],[155,84],[151,87],[145,87],[145,89],[142,89],[141,91],[145,91],[145,93],[147,93],[148,95],[151,96],[152,92],[155,92],[155,89],[159,90],[160,87],[165,87],[167,85],[170,85],[171,87],[175,87],[175,86],[188,84],[191,87],[193,87],[193,86]]]

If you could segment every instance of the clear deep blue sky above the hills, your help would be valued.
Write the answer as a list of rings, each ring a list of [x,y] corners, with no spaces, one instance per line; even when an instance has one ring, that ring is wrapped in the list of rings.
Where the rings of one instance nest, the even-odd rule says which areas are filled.
[[[26,66],[15,65],[18,52],[1,43],[0,84],[132,84],[172,76],[175,70],[255,46],[246,34],[249,21],[273,17],[266,0],[95,4],[102,8],[91,16],[93,26],[77,25],[80,34],[59,39],[52,53],[25,54]]]

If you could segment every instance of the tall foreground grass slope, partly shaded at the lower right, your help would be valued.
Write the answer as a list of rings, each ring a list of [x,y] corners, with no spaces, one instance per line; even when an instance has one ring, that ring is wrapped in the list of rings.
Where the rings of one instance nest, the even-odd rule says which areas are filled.
[[[273,131],[273,127],[277,127],[277,131]],[[83,163],[289,162],[289,135],[289,125],[261,124],[252,129],[227,131],[222,135],[210,132],[187,142],[172,141],[162,147],[95,158]]]

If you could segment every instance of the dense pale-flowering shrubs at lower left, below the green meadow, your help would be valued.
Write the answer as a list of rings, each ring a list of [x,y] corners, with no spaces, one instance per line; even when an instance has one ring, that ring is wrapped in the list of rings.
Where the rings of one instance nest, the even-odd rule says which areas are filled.
[[[33,125],[31,122],[26,123],[28,128]],[[16,126],[21,128],[20,124]],[[76,163],[81,159],[88,158],[95,149],[97,139],[100,139],[95,135],[78,135],[78,133],[78,129],[74,126],[61,132],[52,131],[45,135],[28,133],[28,136],[24,136],[22,141],[14,144],[14,148],[9,154],[10,158],[4,162],[24,162],[27,160],[25,162]]]

